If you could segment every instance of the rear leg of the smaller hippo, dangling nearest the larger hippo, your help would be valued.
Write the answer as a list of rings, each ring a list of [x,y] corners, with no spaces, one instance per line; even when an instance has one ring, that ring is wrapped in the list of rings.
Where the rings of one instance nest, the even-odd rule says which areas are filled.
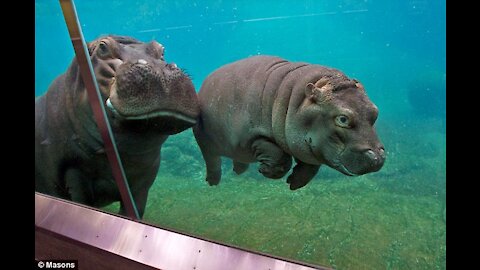
[[[205,180],[210,186],[218,185],[222,178],[222,159],[220,155],[213,152],[214,148],[211,146],[211,143],[209,143],[210,141],[206,134],[201,131],[201,127],[198,125],[195,126],[193,134],[195,135],[195,139],[205,160],[205,165],[207,166],[207,177]]]

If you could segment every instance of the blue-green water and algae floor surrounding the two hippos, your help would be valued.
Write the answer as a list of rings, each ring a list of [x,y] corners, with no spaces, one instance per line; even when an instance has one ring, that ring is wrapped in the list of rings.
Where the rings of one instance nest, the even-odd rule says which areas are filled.
[[[297,191],[256,164],[238,176],[228,159],[210,187],[191,129],[170,136],[144,220],[335,269],[446,268],[445,0],[75,4],[87,41],[155,39],[197,91],[224,64],[276,55],[342,70],[380,110],[387,159],[379,172],[352,178],[322,166]],[[59,2],[35,1],[35,97],[73,57]]]

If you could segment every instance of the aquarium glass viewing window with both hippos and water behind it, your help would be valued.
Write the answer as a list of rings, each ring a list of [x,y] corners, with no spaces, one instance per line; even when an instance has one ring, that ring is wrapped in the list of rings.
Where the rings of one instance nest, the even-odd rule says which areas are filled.
[[[143,221],[334,269],[446,268],[445,0],[75,5]],[[36,0],[36,189],[118,213],[74,57]]]

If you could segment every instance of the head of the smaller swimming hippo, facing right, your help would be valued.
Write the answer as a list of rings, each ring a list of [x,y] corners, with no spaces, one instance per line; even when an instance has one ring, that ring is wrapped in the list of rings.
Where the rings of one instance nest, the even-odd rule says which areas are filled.
[[[293,154],[349,176],[378,171],[385,150],[374,128],[377,116],[377,107],[358,81],[336,73],[310,82],[295,117],[296,131],[291,131],[300,136]]]

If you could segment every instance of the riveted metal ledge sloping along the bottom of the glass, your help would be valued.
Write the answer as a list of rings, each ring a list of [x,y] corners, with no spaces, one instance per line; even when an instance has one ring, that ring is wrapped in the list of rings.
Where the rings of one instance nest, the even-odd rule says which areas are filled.
[[[328,269],[246,251],[35,194],[35,257],[80,269]]]

